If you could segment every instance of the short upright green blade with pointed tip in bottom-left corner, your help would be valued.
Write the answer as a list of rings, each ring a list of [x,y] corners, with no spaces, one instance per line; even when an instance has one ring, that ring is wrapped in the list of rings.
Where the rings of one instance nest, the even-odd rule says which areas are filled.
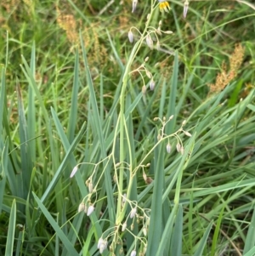
[[[5,256],[13,255],[14,252],[14,238],[16,226],[16,201],[14,199],[8,220],[8,235],[5,247]]]

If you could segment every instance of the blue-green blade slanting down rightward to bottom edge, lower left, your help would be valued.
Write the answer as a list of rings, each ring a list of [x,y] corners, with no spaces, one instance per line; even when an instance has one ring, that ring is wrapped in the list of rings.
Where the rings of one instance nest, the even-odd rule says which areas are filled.
[[[38,207],[42,210],[42,213],[48,219],[49,224],[54,228],[56,235],[59,236],[59,239],[63,242],[63,246],[66,248],[66,250],[70,253],[72,256],[78,256],[79,253],[74,248],[74,245],[71,244],[67,236],[65,236],[65,233],[60,229],[57,222],[54,220],[54,218],[51,216],[50,213],[48,213],[47,208],[43,205],[42,201],[37,197],[37,195],[32,192],[35,200],[37,201]]]

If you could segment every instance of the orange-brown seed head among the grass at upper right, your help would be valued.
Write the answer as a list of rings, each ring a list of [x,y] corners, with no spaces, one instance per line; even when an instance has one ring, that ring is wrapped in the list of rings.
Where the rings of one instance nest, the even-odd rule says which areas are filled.
[[[227,65],[223,62],[222,71],[218,73],[216,82],[209,84],[209,94],[217,94],[223,90],[227,84],[237,76],[237,72],[241,67],[245,49],[242,48],[241,43],[235,44],[235,50],[229,57],[229,71]]]

